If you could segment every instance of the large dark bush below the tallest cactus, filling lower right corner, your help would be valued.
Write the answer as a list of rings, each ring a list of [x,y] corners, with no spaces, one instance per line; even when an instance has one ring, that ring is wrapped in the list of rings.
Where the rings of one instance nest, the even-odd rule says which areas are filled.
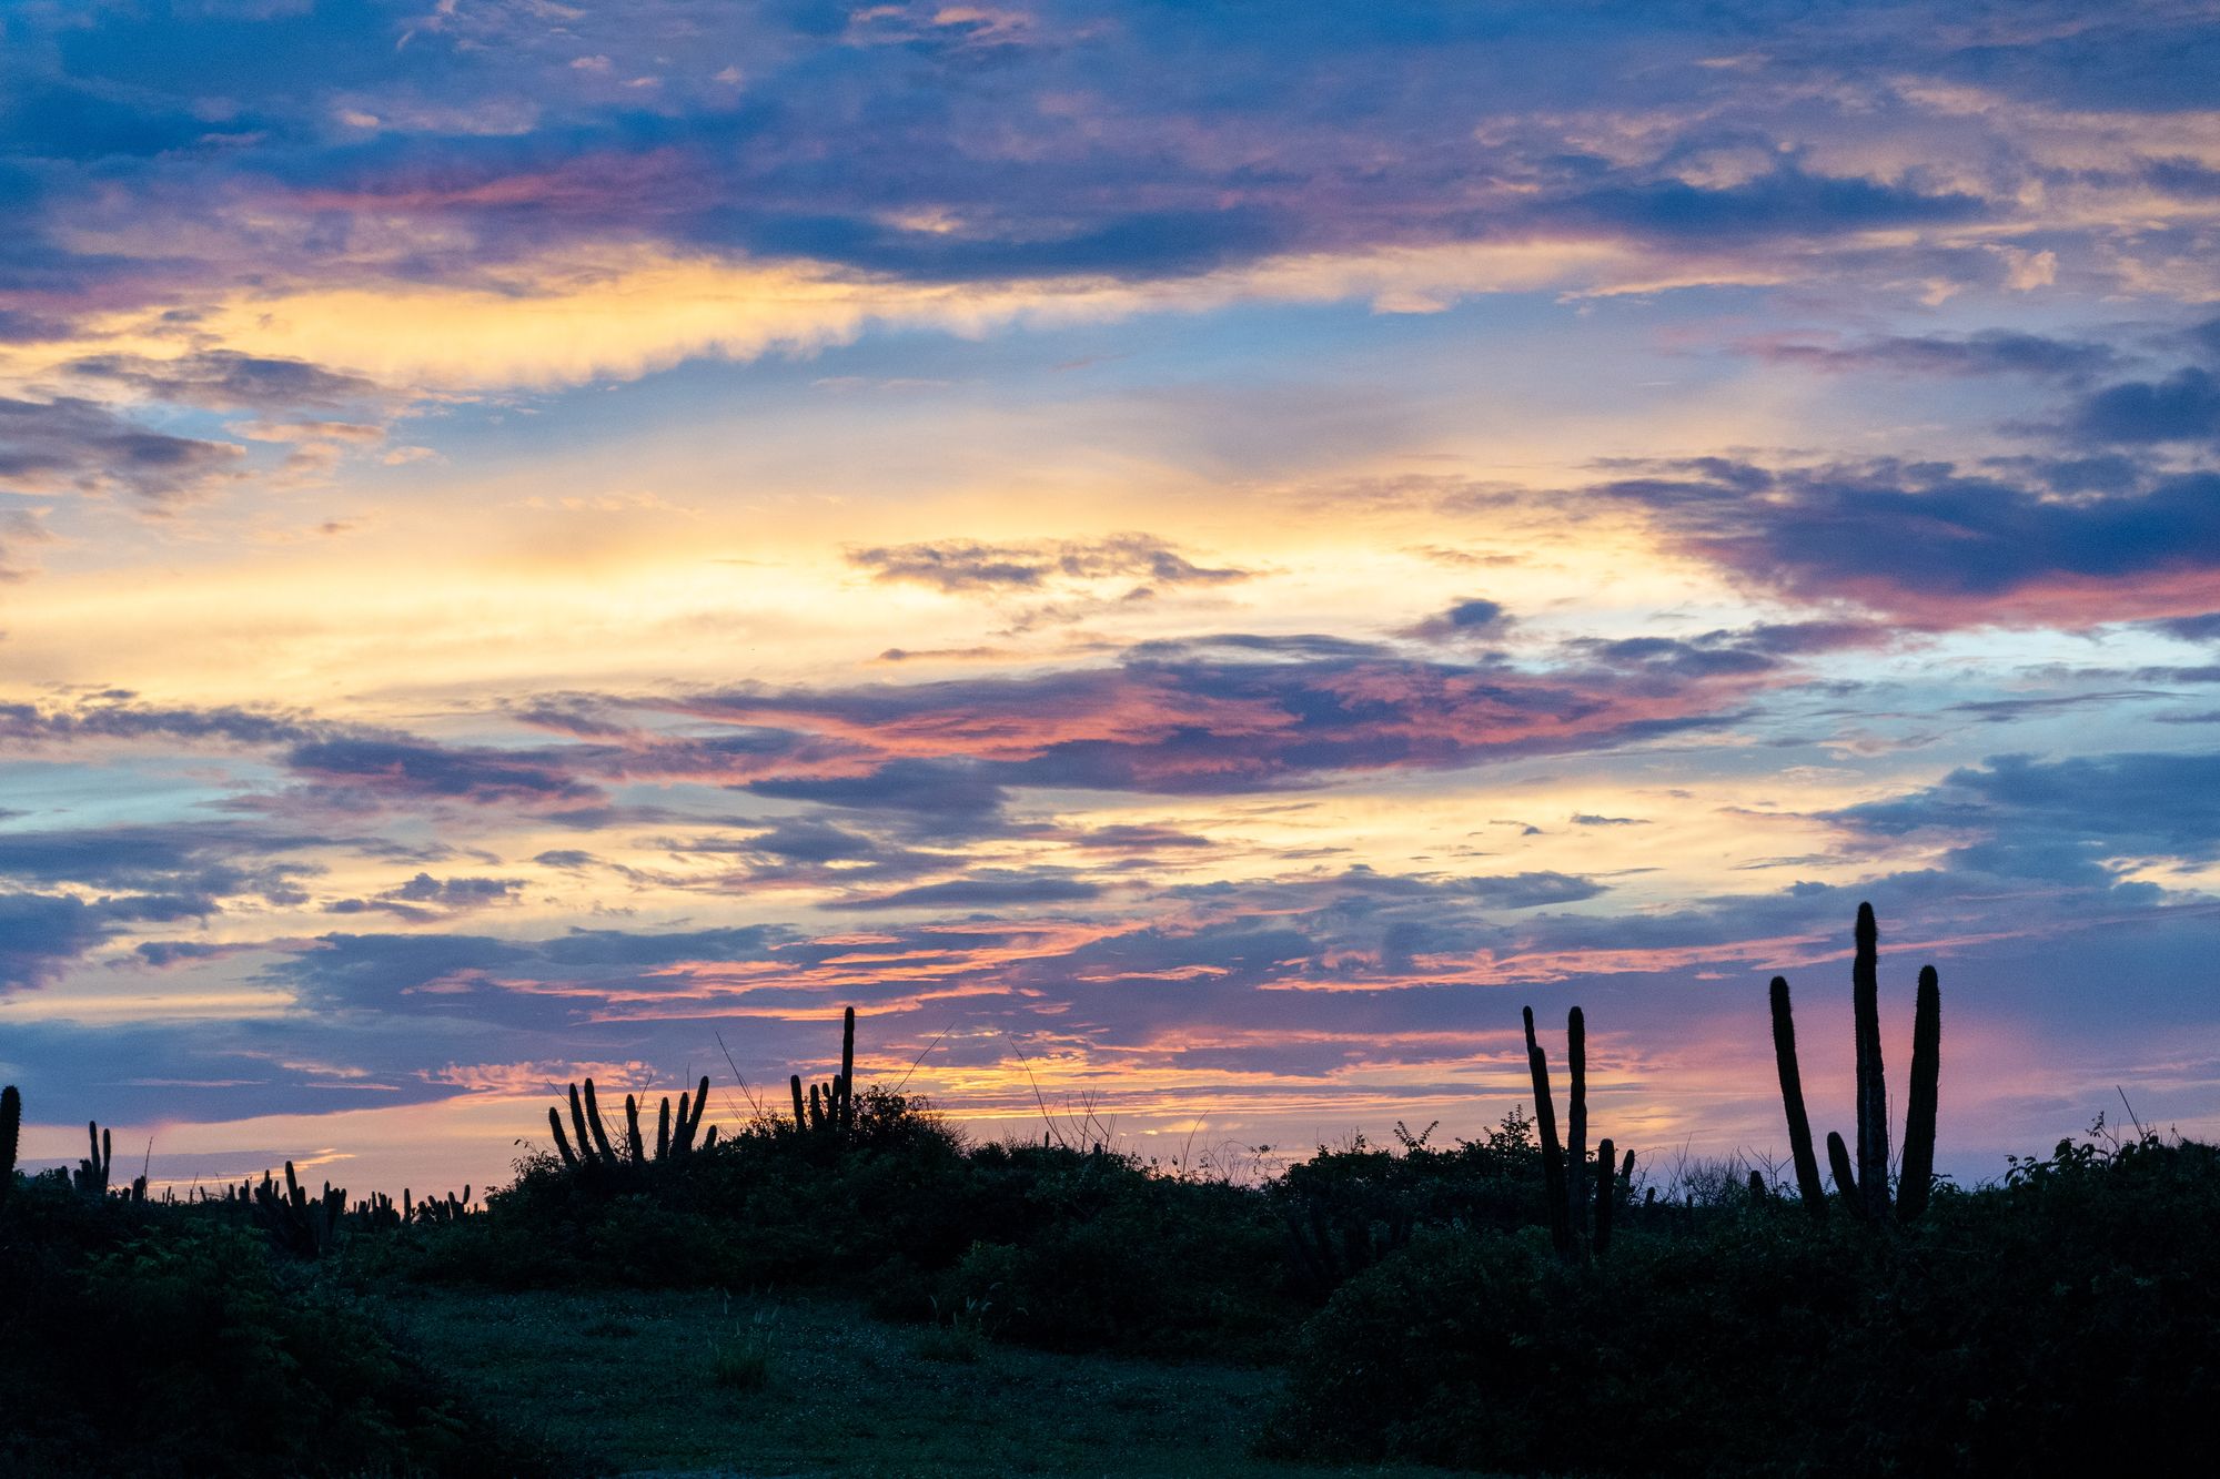
[[[2220,1150],[2062,1144],[1914,1228],[1787,1201],[1421,1235],[1303,1330],[1272,1446],[1514,1472],[2131,1472],[2220,1390]]]

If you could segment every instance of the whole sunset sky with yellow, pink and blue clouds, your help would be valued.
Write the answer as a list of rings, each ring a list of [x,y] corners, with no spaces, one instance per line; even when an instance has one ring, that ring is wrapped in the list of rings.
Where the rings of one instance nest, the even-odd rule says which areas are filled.
[[[24,1155],[2220,1133],[2220,7],[11,0]],[[2122,1104],[2125,1099],[2125,1104]]]

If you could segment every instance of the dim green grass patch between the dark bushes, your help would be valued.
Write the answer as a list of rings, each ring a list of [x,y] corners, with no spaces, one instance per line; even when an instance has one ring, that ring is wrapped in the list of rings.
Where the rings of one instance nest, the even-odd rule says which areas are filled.
[[[1043,1355],[977,1341],[924,1355],[917,1328],[839,1299],[690,1290],[406,1290],[426,1361],[595,1475],[1379,1475],[1250,1455],[1274,1372]],[[757,1384],[726,1381],[735,1355]]]

